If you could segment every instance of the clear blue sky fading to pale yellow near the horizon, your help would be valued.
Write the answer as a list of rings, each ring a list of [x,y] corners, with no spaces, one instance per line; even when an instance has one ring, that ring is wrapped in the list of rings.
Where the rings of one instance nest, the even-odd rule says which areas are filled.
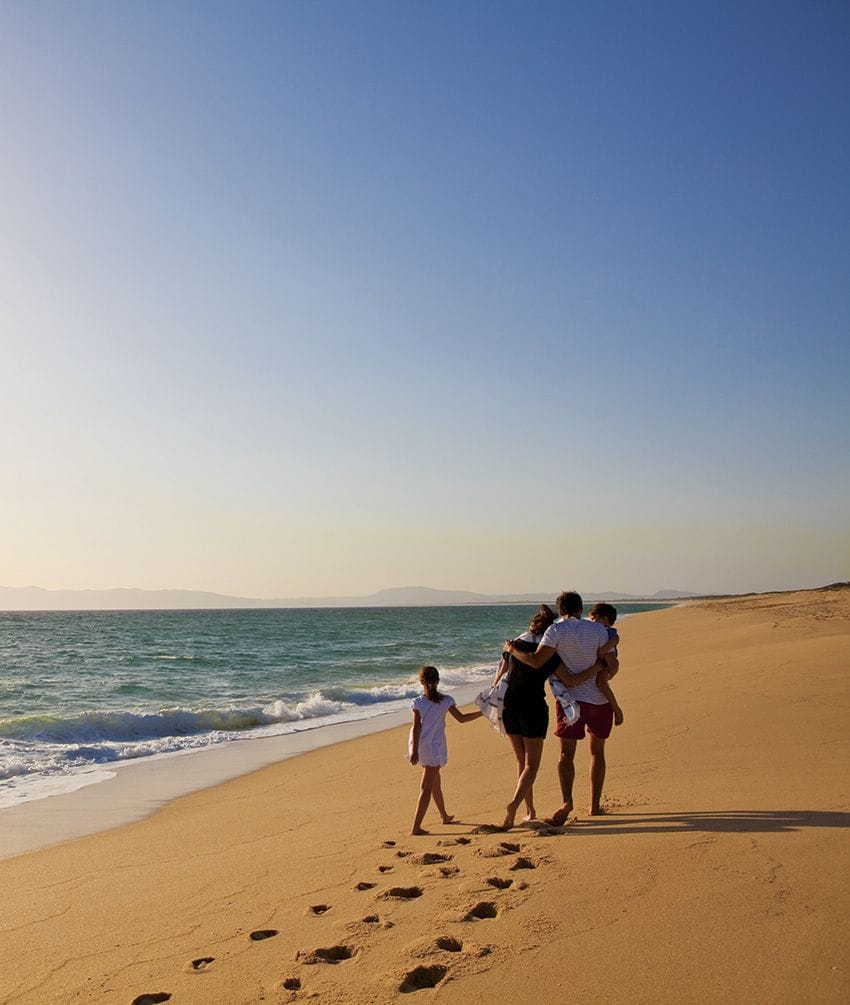
[[[850,6],[0,5],[0,585],[850,578]]]

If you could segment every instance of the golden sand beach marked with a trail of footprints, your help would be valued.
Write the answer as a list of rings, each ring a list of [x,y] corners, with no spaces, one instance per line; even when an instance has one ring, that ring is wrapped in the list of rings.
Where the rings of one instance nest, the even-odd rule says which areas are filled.
[[[638,615],[620,654],[606,816],[581,751],[566,827],[482,832],[483,721],[424,837],[406,727],[312,751],[0,860],[0,1002],[850,1001],[850,590]]]

